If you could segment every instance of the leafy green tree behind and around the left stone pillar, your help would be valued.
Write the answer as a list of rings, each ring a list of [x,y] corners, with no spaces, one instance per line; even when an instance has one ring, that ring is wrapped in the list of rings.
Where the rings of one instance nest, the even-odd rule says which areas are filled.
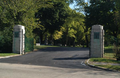
[[[40,0],[39,0],[40,1]],[[9,47],[12,52],[13,26],[21,24],[26,27],[26,36],[33,37],[36,28],[35,12],[37,0],[0,0],[0,35],[4,35],[0,42],[1,50]]]

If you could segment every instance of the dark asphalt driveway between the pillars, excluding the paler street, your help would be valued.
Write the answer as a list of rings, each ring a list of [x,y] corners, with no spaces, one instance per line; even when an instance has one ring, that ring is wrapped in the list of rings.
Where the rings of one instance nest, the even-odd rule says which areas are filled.
[[[61,68],[83,68],[89,58],[88,48],[49,47],[23,56],[1,59],[1,63],[42,65]]]

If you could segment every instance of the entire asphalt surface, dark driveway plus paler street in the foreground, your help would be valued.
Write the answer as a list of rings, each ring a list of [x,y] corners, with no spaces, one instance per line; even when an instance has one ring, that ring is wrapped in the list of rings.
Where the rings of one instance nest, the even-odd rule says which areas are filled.
[[[119,72],[84,64],[88,48],[50,47],[0,59],[0,78],[120,78]]]

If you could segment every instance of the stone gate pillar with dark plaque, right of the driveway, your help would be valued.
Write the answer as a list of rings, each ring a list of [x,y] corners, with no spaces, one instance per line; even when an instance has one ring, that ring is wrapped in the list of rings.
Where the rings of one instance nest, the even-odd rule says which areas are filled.
[[[104,54],[104,30],[101,25],[93,25],[91,30],[90,57],[102,58]]]

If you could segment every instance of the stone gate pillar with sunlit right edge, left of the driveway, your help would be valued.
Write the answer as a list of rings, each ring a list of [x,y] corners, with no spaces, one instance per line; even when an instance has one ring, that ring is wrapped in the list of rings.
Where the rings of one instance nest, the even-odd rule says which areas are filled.
[[[24,54],[25,50],[25,27],[14,26],[13,30],[13,53]]]

